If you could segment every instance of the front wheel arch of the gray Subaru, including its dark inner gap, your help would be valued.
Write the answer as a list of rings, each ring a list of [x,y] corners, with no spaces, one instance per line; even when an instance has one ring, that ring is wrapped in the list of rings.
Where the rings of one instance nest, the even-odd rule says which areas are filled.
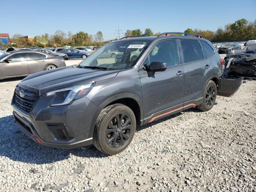
[[[95,112],[90,125],[90,137],[92,137],[93,135],[96,120],[100,115],[101,110],[106,108],[107,106],[117,103],[124,104],[131,108],[131,110],[134,112],[137,126],[141,126],[143,124],[143,110],[140,98],[134,94],[119,94],[105,100],[102,104],[100,104],[100,106],[98,106],[98,110]]]

